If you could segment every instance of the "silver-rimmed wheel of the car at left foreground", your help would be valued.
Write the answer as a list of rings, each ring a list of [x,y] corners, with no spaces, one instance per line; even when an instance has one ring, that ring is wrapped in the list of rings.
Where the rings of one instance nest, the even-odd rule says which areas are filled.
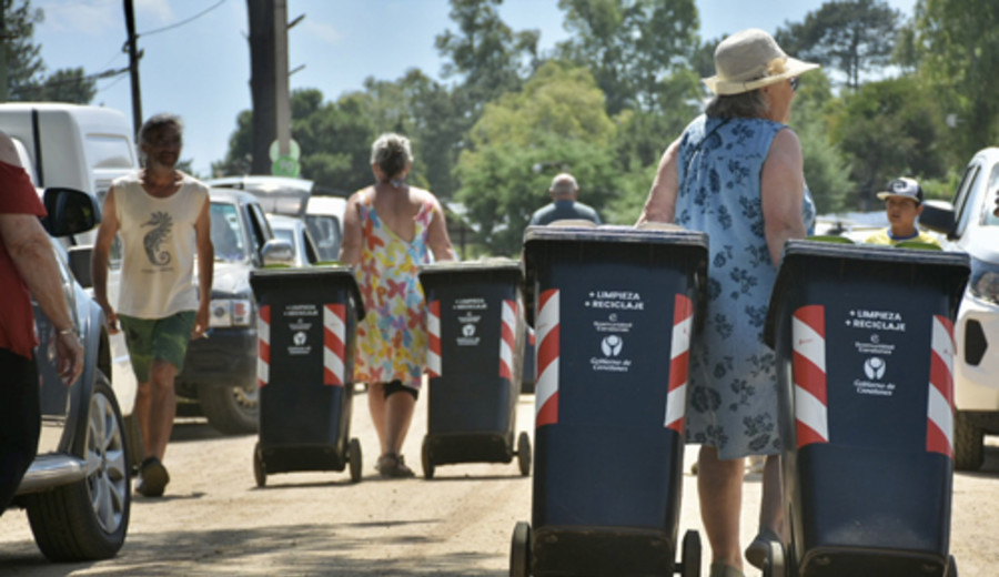
[[[132,505],[124,421],[111,384],[97,371],[87,432],[73,444],[87,477],[29,497],[31,532],[53,561],[113,557],[124,544]]]

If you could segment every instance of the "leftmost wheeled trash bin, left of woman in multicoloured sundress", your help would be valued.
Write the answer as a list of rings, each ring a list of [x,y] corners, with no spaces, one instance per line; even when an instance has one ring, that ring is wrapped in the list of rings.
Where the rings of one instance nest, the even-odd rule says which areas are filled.
[[[343,470],[361,480],[361,443],[350,438],[357,321],[364,304],[345,266],[250,273],[259,304],[260,439],[256,485],[268,475]]]

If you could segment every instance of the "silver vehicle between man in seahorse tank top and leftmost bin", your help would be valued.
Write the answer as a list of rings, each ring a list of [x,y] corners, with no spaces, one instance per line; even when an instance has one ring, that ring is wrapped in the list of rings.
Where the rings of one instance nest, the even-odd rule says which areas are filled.
[[[176,376],[179,401],[194,402],[216,429],[255,433],[256,302],[250,271],[269,264],[291,265],[292,246],[274,236],[252,194],[211,189],[212,243],[215,245],[211,317],[205,338],[188,346]]]

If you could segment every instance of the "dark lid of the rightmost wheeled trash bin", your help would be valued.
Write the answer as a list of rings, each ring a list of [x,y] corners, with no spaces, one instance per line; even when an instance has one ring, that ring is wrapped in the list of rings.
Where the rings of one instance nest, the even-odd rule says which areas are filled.
[[[807,277],[809,270],[821,267],[842,269],[848,262],[870,264],[884,264],[885,266],[900,264],[918,264],[930,266],[937,271],[937,275],[946,283],[951,302],[960,302],[965,283],[970,274],[970,259],[966,253],[928,251],[924,249],[904,249],[898,246],[882,246],[876,244],[838,244],[817,241],[788,241],[784,245],[784,260],[777,272],[774,291],[770,293],[769,310],[764,330],[764,342],[774,346],[776,341],[776,325],[778,304],[787,296],[795,279]]]

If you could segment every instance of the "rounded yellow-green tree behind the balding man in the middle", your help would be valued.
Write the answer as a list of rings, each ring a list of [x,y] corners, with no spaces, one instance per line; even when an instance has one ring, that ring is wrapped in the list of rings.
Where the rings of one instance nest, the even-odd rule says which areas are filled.
[[[556,61],[543,64],[523,91],[487,104],[456,168],[456,199],[477,240],[494,254],[518,253],[556,172],[572,172],[584,202],[603,206],[616,195],[614,132],[589,72]]]

